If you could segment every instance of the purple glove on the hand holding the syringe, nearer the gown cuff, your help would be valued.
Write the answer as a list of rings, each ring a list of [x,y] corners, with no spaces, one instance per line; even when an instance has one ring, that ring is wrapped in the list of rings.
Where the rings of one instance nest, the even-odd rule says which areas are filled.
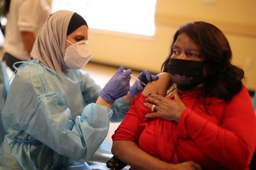
[[[130,89],[131,73],[132,70],[127,69],[124,72],[124,67],[120,66],[115,75],[113,75],[101,92],[99,92],[99,95],[108,103],[114,103],[116,99],[127,95]]]

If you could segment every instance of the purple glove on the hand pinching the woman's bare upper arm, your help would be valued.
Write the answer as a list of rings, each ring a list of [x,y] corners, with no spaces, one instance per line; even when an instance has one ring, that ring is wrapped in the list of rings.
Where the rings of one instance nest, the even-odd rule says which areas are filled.
[[[148,84],[149,81],[158,80],[158,77],[156,75],[152,75],[148,70],[144,70],[138,75],[138,79]],[[135,81],[132,87],[130,87],[130,94],[135,97],[135,95],[137,95],[138,92],[142,92],[143,89],[143,84],[141,84],[139,81]]]

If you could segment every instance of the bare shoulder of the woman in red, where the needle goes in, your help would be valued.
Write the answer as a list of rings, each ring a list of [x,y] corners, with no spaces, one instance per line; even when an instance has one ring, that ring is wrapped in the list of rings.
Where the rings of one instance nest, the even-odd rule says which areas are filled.
[[[142,94],[148,96],[149,94],[158,94],[165,96],[166,91],[171,86],[171,75],[169,73],[159,73],[157,75],[159,78],[156,81],[151,81],[144,88]]]

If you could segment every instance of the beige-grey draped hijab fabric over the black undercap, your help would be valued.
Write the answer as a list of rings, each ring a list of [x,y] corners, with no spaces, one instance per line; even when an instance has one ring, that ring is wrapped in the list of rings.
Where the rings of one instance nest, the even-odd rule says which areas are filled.
[[[66,48],[68,24],[74,12],[59,10],[48,16],[41,27],[30,55],[44,66],[57,72],[66,72],[68,67],[63,57]]]

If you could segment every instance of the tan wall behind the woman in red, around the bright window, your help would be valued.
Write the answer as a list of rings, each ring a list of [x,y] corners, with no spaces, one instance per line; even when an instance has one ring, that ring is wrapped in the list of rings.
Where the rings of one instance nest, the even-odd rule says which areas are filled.
[[[91,61],[160,72],[174,32],[185,22],[199,20],[223,30],[233,50],[233,63],[244,69],[246,86],[256,89],[255,0],[158,0],[155,36],[91,29]]]

